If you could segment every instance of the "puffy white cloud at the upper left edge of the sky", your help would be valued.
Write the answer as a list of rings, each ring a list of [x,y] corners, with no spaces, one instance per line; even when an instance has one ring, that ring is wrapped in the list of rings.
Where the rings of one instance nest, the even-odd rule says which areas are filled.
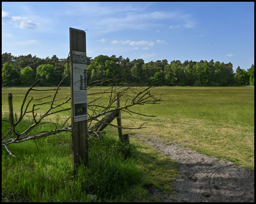
[[[20,29],[35,29],[40,23],[34,23],[26,17],[13,16],[9,17],[8,12],[2,11],[2,24],[14,23]]]

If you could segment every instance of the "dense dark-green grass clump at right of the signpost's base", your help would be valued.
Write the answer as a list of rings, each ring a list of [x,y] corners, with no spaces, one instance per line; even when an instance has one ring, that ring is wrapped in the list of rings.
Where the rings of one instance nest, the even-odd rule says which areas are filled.
[[[123,144],[111,136],[104,136],[104,140],[113,147],[97,138],[89,139],[91,147],[89,168],[81,165],[77,177],[82,182],[86,194],[96,194],[101,198],[115,198],[129,186],[138,184],[142,176],[134,160],[125,159],[127,155],[122,155]],[[127,147],[129,148],[131,149]]]

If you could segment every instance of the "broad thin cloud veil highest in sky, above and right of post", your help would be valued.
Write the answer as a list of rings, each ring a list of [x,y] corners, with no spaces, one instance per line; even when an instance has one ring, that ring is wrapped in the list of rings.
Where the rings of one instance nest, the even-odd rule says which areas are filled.
[[[79,6],[81,4],[81,6]],[[93,5],[93,6],[92,6]],[[88,7],[90,9],[88,10]],[[68,15],[81,15],[82,18],[90,18],[92,29],[98,33],[104,34],[114,31],[123,31],[127,29],[151,29],[164,27],[164,21],[179,23],[173,26],[178,28],[192,28],[195,26],[193,17],[189,14],[183,14],[180,11],[154,11],[147,12],[143,8],[136,6],[102,5],[102,3],[77,3],[75,6],[69,6]],[[88,25],[87,25],[88,26]]]

